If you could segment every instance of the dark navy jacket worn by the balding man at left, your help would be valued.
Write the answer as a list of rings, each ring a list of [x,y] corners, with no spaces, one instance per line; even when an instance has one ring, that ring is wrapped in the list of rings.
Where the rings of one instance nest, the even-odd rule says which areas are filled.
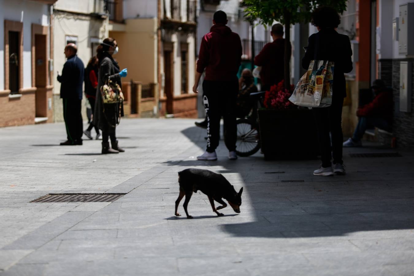
[[[60,98],[82,100],[82,84],[85,67],[77,55],[72,55],[63,65],[62,75],[58,76],[60,82]]]

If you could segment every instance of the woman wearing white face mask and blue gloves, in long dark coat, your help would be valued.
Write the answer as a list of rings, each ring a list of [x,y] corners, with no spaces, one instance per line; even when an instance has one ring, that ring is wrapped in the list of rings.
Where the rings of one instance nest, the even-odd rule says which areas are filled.
[[[102,154],[117,154],[124,152],[118,146],[115,133],[119,116],[123,116],[123,103],[103,105],[101,86],[106,83],[108,78],[121,86],[121,77],[127,76],[127,70],[120,71],[118,62],[112,58],[112,55],[118,53],[115,39],[105,38],[96,49],[96,53],[99,60],[99,72],[93,123],[102,130]],[[109,146],[109,138],[111,138],[111,147]]]

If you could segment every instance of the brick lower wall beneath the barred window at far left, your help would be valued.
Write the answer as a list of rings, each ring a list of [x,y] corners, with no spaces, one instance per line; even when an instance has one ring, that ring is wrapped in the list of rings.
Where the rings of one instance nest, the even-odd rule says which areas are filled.
[[[25,91],[19,98],[0,92],[0,127],[34,124],[35,92]]]

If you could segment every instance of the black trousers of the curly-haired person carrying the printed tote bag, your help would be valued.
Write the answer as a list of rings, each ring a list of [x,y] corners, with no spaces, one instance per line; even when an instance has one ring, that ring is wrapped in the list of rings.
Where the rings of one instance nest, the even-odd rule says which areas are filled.
[[[344,98],[342,96],[332,98],[332,106],[326,108],[313,108],[316,127],[318,130],[318,141],[322,159],[322,166],[332,166],[333,163],[342,164],[342,106]],[[332,135],[332,143],[329,132]]]

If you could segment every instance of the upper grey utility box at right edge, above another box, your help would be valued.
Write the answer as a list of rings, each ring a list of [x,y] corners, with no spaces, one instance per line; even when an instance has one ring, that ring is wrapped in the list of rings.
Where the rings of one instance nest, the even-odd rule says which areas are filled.
[[[398,18],[398,53],[414,55],[414,3],[400,5]]]

